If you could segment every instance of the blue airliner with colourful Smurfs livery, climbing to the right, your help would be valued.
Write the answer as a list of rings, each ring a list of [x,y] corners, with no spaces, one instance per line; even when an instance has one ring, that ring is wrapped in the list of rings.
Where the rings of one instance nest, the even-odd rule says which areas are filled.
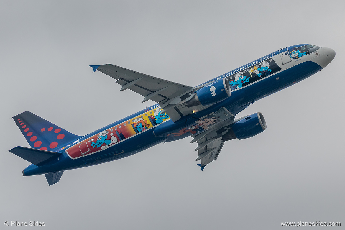
[[[312,76],[335,51],[298,44],[272,52],[196,87],[152,77],[113,64],[90,66],[114,78],[122,88],[156,102],[85,136],[77,136],[31,112],[13,117],[31,148],[10,152],[31,163],[23,176],[45,174],[49,186],[66,170],[92,166],[193,137],[201,171],[217,160],[225,141],[246,139],[266,130],[262,113],[235,119],[255,101]]]

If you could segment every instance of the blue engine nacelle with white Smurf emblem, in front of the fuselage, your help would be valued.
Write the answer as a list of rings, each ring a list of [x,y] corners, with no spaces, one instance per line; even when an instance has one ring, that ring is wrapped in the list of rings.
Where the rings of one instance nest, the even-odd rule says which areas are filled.
[[[198,105],[208,106],[215,104],[231,96],[229,81],[225,78],[210,82],[199,89],[194,97],[187,102],[187,107]]]

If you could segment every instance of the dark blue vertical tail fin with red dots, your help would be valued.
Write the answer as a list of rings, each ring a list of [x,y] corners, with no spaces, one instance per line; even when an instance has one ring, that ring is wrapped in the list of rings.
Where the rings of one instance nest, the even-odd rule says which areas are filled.
[[[31,148],[56,151],[80,138],[55,124],[26,111],[13,117]]]

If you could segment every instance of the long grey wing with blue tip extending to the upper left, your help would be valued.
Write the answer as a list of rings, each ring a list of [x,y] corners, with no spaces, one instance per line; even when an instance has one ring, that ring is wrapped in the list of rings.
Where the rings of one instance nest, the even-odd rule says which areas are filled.
[[[122,86],[120,91],[130,89],[145,97],[142,102],[152,100],[159,103],[163,109],[167,107],[165,108],[165,112],[174,122],[181,118],[174,105],[181,102],[181,97],[184,94],[194,90],[194,87],[152,77],[113,64],[91,67],[94,72],[99,70],[116,79],[116,83]],[[169,104],[170,106],[168,106]]]

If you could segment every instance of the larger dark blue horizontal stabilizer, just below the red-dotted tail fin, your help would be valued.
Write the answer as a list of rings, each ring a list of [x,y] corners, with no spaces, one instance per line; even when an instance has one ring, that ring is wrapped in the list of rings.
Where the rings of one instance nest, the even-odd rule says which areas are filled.
[[[27,160],[37,166],[40,166],[43,163],[48,162],[60,156],[61,154],[61,153],[40,150],[40,149],[31,149],[31,148],[26,148],[26,147],[21,147],[21,146],[17,146],[8,151],[10,151],[13,154],[16,154],[18,157],[21,157],[24,160]]]

